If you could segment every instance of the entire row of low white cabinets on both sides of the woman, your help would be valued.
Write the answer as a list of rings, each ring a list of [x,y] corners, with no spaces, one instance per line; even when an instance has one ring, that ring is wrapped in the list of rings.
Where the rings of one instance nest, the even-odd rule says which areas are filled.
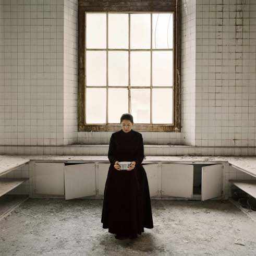
[[[222,164],[142,164],[148,177],[151,198],[201,199],[222,196]],[[36,162],[33,195],[73,198],[102,198],[109,163]]]

